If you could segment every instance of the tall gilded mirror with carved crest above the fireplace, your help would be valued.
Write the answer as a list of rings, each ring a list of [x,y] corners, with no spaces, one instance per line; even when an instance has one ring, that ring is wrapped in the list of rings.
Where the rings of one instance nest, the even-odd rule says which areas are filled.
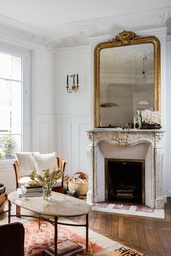
[[[160,111],[160,43],[123,31],[94,49],[94,127],[126,127],[137,110]]]

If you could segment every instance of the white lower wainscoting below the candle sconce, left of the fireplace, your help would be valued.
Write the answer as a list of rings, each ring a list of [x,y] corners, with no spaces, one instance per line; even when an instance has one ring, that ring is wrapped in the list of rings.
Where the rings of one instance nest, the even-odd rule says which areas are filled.
[[[88,173],[86,131],[90,128],[90,117],[56,115],[54,120],[57,153],[67,159],[65,175],[79,170]]]

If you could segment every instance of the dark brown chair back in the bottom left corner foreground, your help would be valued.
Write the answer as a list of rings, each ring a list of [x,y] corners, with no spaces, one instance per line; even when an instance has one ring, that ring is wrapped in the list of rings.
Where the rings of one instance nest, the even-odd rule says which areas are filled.
[[[22,223],[10,223],[0,226],[2,256],[24,256],[25,228]]]

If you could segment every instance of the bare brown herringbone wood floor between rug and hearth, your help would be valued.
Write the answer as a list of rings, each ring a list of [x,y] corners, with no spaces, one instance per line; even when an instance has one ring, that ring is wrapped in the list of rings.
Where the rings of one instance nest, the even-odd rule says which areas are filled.
[[[82,222],[83,218],[77,218],[77,221]],[[91,212],[89,226],[93,231],[148,256],[171,256],[171,198],[167,199],[164,220]]]

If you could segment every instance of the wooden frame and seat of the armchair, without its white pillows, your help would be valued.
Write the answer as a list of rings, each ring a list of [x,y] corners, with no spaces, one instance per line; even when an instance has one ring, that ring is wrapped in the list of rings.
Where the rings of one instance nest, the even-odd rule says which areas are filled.
[[[59,169],[62,169],[62,177],[57,181],[57,183],[54,184],[52,191],[56,191],[59,193],[63,193],[63,186],[64,186],[64,168],[67,163],[67,160],[63,157],[57,157],[57,163],[59,166]],[[20,186],[28,183],[28,181],[31,181],[31,175],[30,176],[20,176],[20,165],[16,161],[12,163],[15,173],[15,180],[16,180],[16,189],[20,188]],[[20,215],[20,206],[16,206],[16,214]]]

